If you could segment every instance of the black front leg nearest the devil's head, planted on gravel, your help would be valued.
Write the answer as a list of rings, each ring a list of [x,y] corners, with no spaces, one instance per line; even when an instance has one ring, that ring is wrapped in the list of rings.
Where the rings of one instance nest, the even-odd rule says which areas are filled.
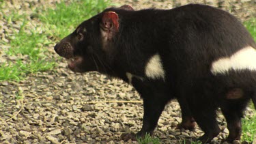
[[[158,124],[158,119],[165,109],[165,104],[172,98],[165,83],[161,81],[152,83],[139,79],[134,80],[133,78],[132,85],[134,85],[143,98],[143,126],[137,134],[122,134],[121,139],[124,141],[129,139],[136,141],[137,138],[144,137],[145,134],[152,136]]]

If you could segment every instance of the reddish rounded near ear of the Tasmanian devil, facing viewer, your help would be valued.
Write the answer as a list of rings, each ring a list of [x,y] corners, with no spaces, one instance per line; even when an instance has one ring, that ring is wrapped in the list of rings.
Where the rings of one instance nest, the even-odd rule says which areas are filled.
[[[115,12],[105,12],[102,16],[102,28],[111,31],[118,31],[119,17]]]

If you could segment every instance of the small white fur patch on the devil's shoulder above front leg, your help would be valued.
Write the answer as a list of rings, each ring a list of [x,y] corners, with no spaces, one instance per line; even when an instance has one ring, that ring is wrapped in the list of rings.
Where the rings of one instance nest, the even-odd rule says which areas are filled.
[[[163,78],[165,80],[165,70],[162,67],[160,55],[153,55],[145,66],[145,75],[148,78]]]

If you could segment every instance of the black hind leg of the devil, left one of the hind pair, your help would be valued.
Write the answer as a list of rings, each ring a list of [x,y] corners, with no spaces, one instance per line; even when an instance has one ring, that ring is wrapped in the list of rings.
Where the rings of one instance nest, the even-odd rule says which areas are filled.
[[[204,134],[199,141],[208,143],[221,131],[216,121],[216,94],[211,83],[197,81],[186,97],[191,113]]]

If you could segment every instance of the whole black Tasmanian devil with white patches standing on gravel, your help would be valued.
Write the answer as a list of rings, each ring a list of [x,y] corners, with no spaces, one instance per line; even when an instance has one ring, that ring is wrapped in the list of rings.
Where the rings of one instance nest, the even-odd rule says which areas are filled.
[[[143,98],[143,126],[153,134],[165,104],[177,98],[180,128],[212,141],[227,120],[227,141],[239,140],[246,104],[256,98],[256,44],[234,16],[207,5],[171,10],[109,8],[85,20],[55,46],[73,72],[98,71],[133,85]],[[195,121],[194,121],[195,119]]]

